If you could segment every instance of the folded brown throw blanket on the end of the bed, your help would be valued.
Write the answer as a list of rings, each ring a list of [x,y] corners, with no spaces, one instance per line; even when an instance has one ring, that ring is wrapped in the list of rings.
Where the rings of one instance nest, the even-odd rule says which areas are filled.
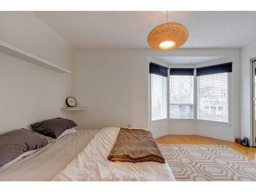
[[[151,131],[121,128],[108,157],[110,161],[165,163]]]

